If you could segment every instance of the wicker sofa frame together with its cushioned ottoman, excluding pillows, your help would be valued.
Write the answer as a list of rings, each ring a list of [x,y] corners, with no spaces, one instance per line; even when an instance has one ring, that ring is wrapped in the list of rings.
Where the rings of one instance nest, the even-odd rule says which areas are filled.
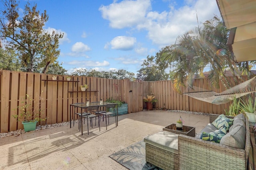
[[[209,124],[218,116],[219,115],[210,114]],[[226,117],[234,118],[232,116]],[[162,169],[246,170],[251,147],[250,129],[247,117],[245,118],[245,127],[244,149],[204,141],[196,137],[160,131],[144,138],[144,142],[146,142],[146,161]],[[169,137],[167,140],[163,139],[167,136],[171,136],[171,138]],[[171,145],[172,149],[168,149],[170,146],[169,144],[166,145],[168,143],[166,141],[168,140],[171,140],[171,143],[178,141],[178,146],[173,147],[174,145]]]

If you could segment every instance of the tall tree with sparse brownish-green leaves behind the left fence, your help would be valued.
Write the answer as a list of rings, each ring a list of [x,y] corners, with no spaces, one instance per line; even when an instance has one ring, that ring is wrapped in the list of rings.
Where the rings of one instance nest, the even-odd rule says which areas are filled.
[[[60,54],[58,40],[63,34],[54,31],[48,33],[43,29],[49,17],[46,10],[42,14],[36,11],[36,4],[30,8],[28,2],[21,18],[16,0],[2,2],[4,9],[0,17],[0,38],[6,41],[5,48],[14,49],[18,53],[24,71],[34,72],[42,68],[42,72],[46,73],[48,66]]]

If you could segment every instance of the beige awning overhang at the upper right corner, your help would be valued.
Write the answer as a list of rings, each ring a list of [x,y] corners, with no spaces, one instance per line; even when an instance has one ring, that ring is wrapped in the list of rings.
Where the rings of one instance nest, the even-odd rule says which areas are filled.
[[[256,60],[256,0],[216,0],[236,61]]]

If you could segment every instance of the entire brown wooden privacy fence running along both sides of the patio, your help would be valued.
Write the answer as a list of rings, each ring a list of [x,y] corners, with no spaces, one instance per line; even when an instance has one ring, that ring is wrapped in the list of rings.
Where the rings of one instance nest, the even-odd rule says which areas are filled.
[[[214,105],[176,93],[171,81],[130,82],[129,80],[112,80],[106,78],[66,76],[31,72],[0,71],[0,132],[22,129],[12,115],[19,114],[17,106],[24,106],[22,101],[26,94],[33,99],[33,108],[41,109],[46,121],[40,125],[69,121],[69,106],[76,102],[105,101],[108,98],[124,101],[128,104],[128,113],[143,110],[142,97],[153,94],[158,99],[157,108],[171,110],[198,111],[204,113],[224,113],[230,104]],[[230,78],[232,80],[232,78]],[[232,82],[232,81],[231,81]],[[80,85],[88,84],[86,92],[81,92]],[[194,80],[194,85],[208,88],[205,78]],[[184,89],[183,89],[184,90]],[[216,92],[222,92],[223,86]],[[32,109],[31,107],[31,109]]]

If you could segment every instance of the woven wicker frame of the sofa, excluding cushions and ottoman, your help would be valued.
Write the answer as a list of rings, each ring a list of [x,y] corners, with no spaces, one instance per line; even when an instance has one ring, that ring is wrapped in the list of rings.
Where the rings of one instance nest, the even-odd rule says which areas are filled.
[[[210,114],[210,123],[219,115]],[[227,116],[229,118],[234,118]],[[180,170],[246,170],[250,143],[250,129],[246,117],[244,149],[229,147],[196,137],[178,136],[178,165]]]

